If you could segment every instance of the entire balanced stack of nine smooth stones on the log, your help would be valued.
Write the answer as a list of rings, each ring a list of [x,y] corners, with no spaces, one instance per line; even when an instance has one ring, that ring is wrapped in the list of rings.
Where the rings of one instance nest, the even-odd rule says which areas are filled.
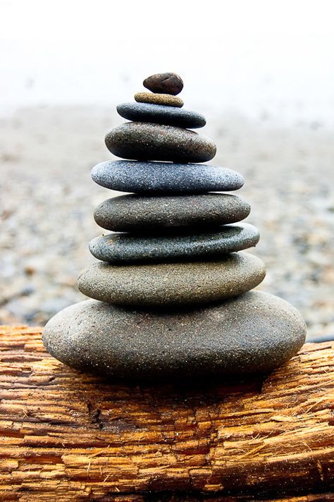
[[[95,166],[92,178],[130,192],[102,202],[92,240],[100,262],[80,274],[94,300],[59,312],[44,329],[49,353],[72,367],[130,379],[268,372],[297,353],[305,324],[273,295],[250,291],[264,279],[248,247],[257,229],[238,223],[249,204],[227,193],[239,173],[199,164],[216,146],[190,129],[205,118],[183,109],[175,73],[144,80],[151,92],[120,104],[130,120],[106,135],[127,160]]]

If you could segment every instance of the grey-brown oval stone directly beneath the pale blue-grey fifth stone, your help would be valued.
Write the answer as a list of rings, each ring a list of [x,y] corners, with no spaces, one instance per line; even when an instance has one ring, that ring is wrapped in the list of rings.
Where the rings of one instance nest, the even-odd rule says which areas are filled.
[[[120,195],[105,200],[94,212],[99,226],[116,232],[158,231],[235,223],[245,219],[250,206],[237,195],[208,193],[204,195]]]

